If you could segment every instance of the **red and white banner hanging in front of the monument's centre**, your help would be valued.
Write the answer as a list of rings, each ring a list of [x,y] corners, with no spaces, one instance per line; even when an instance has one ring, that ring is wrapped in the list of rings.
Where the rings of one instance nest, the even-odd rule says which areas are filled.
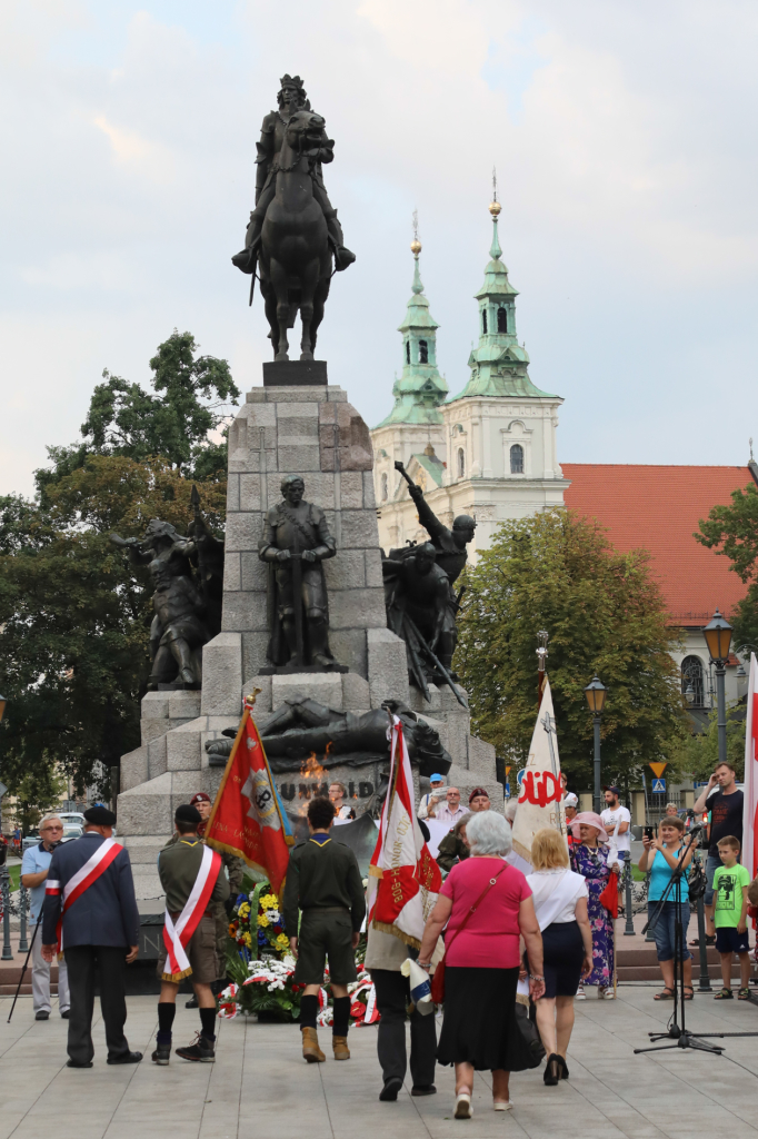
[[[369,921],[421,948],[427,918],[442,886],[439,867],[423,841],[413,803],[413,775],[403,724],[393,716],[389,790],[369,865]]]

